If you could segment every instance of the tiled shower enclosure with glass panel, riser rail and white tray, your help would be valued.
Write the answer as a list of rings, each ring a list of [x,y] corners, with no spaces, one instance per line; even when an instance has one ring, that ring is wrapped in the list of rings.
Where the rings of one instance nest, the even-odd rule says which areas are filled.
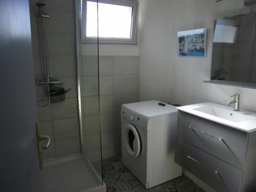
[[[42,148],[49,192],[105,191],[98,38],[81,49],[84,2],[30,1],[40,134],[51,139]],[[84,57],[87,52],[90,56]]]

